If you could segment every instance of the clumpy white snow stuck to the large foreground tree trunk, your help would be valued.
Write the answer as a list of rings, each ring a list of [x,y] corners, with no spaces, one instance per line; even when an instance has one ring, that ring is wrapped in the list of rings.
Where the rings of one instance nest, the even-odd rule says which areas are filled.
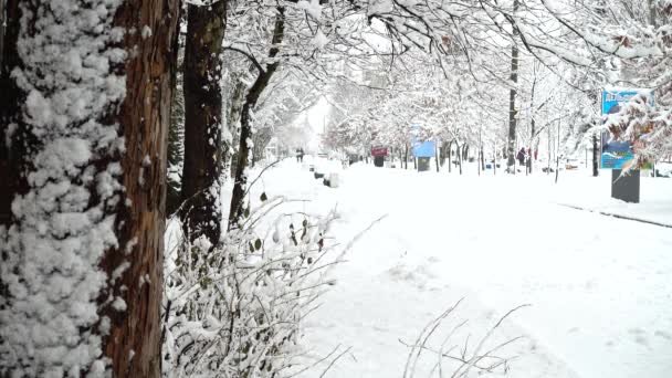
[[[98,263],[116,246],[123,151],[106,117],[126,91],[111,73],[126,53],[112,21],[118,0],[23,2],[12,77],[27,93],[22,125],[35,140],[29,191],[12,203],[15,221],[3,235],[0,266],[0,372],[12,376],[105,375],[96,300],[107,275]],[[118,308],[123,307],[116,303]]]

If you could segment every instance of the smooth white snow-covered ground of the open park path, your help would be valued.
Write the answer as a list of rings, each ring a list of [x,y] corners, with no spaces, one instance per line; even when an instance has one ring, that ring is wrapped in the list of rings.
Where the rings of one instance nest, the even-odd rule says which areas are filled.
[[[339,171],[339,188],[285,160],[254,190],[308,200],[296,210],[337,208],[332,235],[342,245],[374,223],[305,321],[309,357],[349,348],[325,377],[402,376],[403,343],[462,297],[428,345],[438,348],[469,319],[445,348],[471,335],[471,349],[507,311],[529,304],[491,343],[525,336],[500,353],[518,356],[508,376],[672,377],[672,229],[561,206],[672,223],[672,179],[643,178],[642,203],[626,204],[609,198],[608,172],[560,172],[555,185],[544,174],[321,165]],[[426,356],[417,377],[435,366]],[[319,376],[327,363],[303,376]]]

